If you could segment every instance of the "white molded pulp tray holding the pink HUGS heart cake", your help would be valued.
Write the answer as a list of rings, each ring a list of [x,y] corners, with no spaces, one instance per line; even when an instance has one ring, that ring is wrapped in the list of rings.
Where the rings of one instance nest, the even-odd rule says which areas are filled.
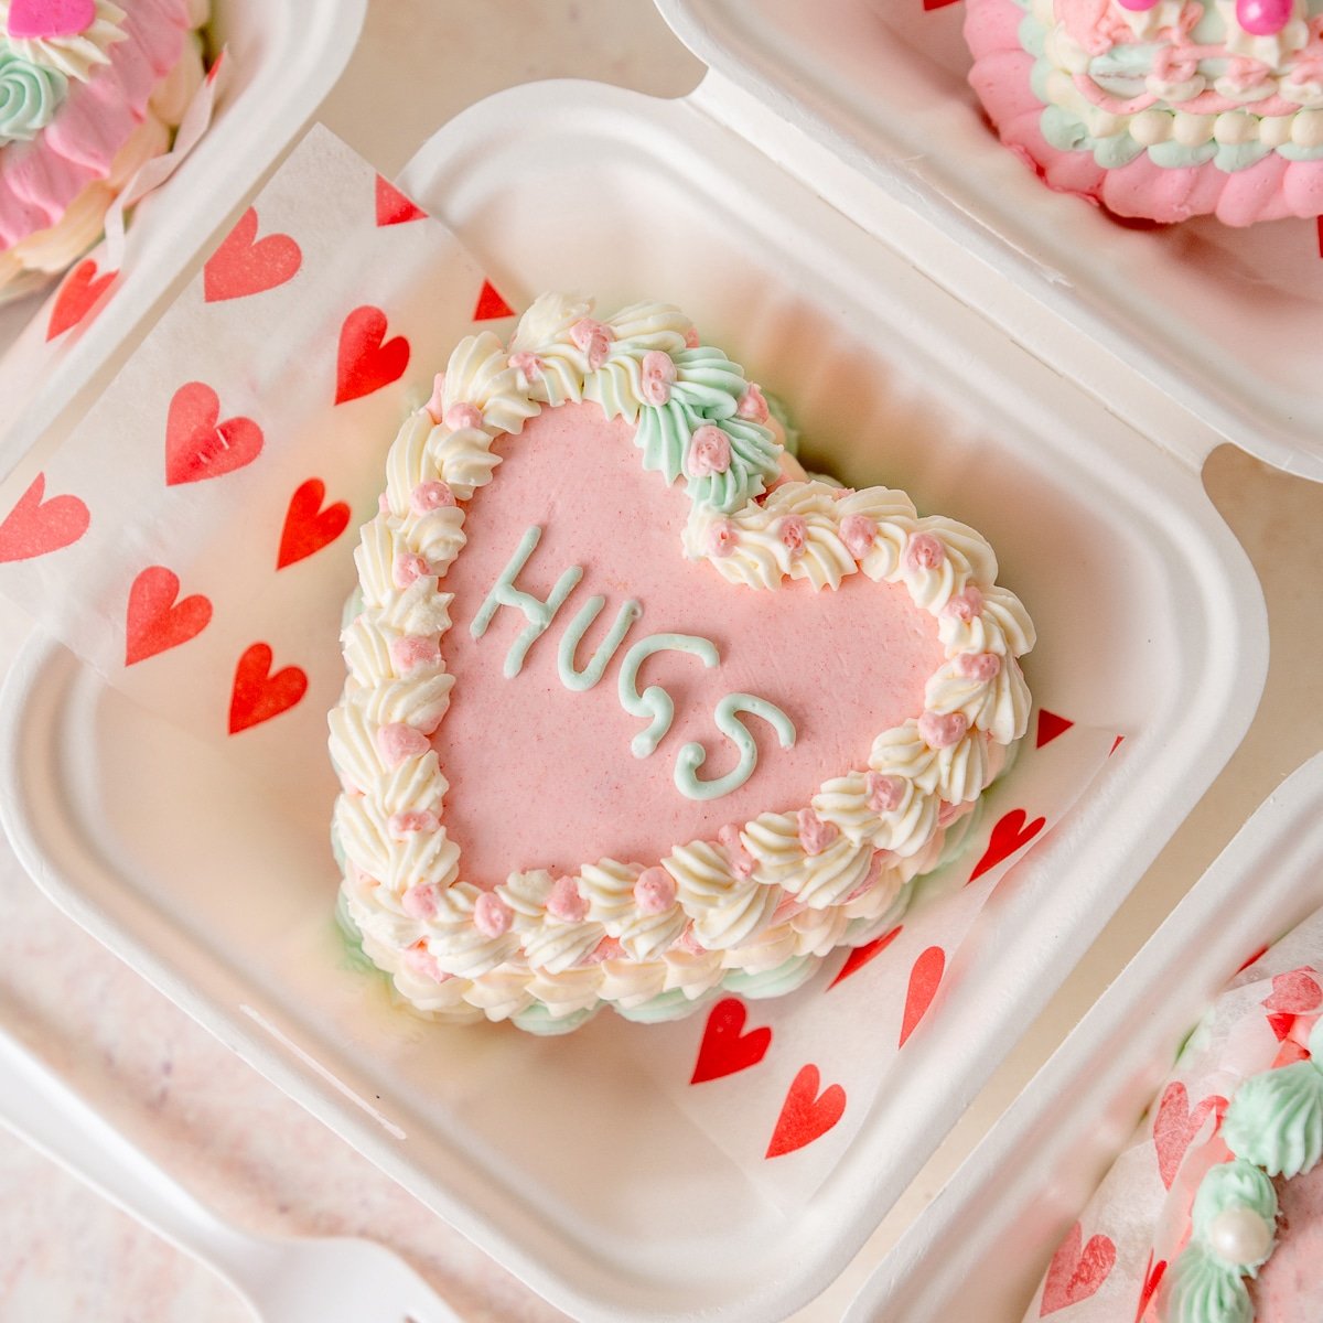
[[[902,1078],[792,1211],[623,1065],[646,1028],[532,1040],[364,996],[328,919],[320,747],[273,802],[38,639],[4,697],[5,826],[61,905],[557,1306],[782,1318],[849,1261],[1230,755],[1266,667],[1258,585],[1196,467],[701,103],[519,89],[401,184],[508,296],[679,303],[792,402],[810,462],[982,529],[1037,620],[1041,700],[1125,745],[999,890]]]

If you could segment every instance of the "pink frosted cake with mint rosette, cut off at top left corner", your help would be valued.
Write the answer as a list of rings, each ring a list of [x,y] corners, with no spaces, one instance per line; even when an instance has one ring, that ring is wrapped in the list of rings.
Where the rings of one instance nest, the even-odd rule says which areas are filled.
[[[101,235],[202,79],[208,0],[0,0],[0,300]]]

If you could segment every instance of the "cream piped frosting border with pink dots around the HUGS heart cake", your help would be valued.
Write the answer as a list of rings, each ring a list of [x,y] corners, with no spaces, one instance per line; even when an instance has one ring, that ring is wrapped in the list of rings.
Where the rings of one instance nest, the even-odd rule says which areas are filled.
[[[581,401],[635,427],[646,470],[667,484],[684,480],[691,560],[742,591],[787,579],[836,589],[855,574],[904,585],[935,620],[943,662],[927,679],[922,713],[878,732],[867,766],[840,769],[796,811],[677,843],[660,860],[601,859],[561,877],[515,871],[486,889],[462,876],[431,738],[454,684],[441,651],[451,626],[445,576],[466,544],[466,503],[500,463],[492,442],[517,437],[544,407]],[[598,320],[590,302],[564,295],[540,298],[509,345],[491,332],[460,341],[429,404],[405,422],[380,513],[356,552],[361,598],[343,634],[348,679],[329,725],[343,786],[333,822],[341,914],[415,1009],[564,1032],[602,1004],[663,1020],[721,987],[789,991],[837,946],[876,935],[906,884],[967,827],[1024,734],[1029,693],[1017,658],[1033,646],[1032,623],[998,585],[982,536],[955,520],[919,519],[902,492],[810,479],[778,433],[758,386],[700,344],[677,310],[643,303]],[[527,617],[507,675],[553,610],[519,593],[513,570],[484,606]],[[601,679],[628,624],[617,622],[578,683]],[[642,662],[635,648],[622,665],[620,701],[648,720],[634,745],[646,757],[669,712],[664,691],[640,695],[627,683]],[[675,767],[681,794],[714,798],[747,779],[757,761],[750,716],[782,745],[794,740],[794,724],[773,704],[730,695],[717,722],[740,763],[704,781],[701,746],[685,746]]]

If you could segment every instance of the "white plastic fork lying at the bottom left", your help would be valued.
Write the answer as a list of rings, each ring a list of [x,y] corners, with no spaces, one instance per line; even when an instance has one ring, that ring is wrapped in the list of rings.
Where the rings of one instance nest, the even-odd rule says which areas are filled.
[[[382,1245],[222,1221],[0,1028],[0,1125],[224,1277],[266,1323],[459,1323]]]

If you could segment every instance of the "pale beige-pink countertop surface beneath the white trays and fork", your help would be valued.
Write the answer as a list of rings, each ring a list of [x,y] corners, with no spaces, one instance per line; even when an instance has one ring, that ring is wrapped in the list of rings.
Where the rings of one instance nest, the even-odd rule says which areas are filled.
[[[390,77],[384,78],[382,71]],[[386,175],[488,93],[583,77],[681,95],[703,69],[650,0],[373,0],[319,118]],[[1232,447],[1205,487],[1262,579],[1267,689],[1230,765],[1088,958],[843,1277],[795,1315],[839,1319],[853,1293],[1236,830],[1323,747],[1323,486]],[[25,623],[0,609],[0,671]],[[254,1230],[364,1234],[398,1249],[467,1323],[562,1318],[58,913],[0,843],[0,1015],[135,1142]],[[0,1134],[0,1323],[239,1323],[209,1270]]]

